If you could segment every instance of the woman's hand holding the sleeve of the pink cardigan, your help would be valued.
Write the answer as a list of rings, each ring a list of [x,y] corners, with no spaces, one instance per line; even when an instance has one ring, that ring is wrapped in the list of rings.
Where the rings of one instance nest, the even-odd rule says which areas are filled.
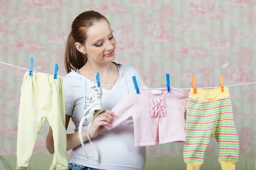
[[[90,138],[96,137],[103,129],[104,126],[108,126],[112,123],[112,116],[116,116],[110,110],[104,110],[100,112],[93,120],[92,125],[90,127]]]

